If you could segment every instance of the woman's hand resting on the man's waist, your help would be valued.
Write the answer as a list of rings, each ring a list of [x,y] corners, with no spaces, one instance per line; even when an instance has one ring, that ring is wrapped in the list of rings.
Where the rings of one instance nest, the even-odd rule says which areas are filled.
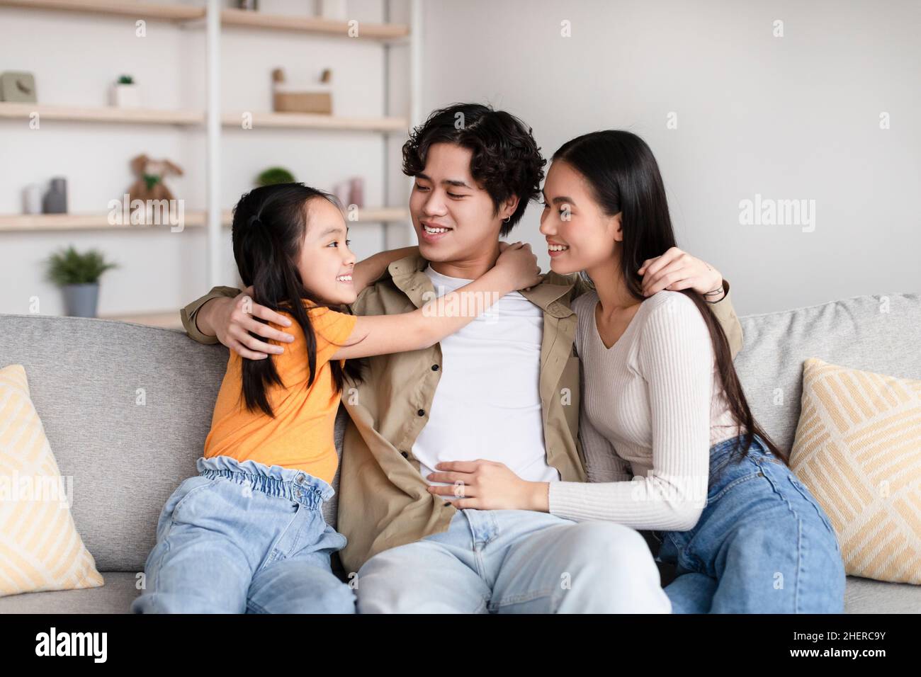
[[[522,480],[505,463],[495,461],[445,461],[437,463],[430,482],[449,482],[450,486],[432,484],[429,494],[455,496],[455,508],[479,510],[550,511],[546,482]]]

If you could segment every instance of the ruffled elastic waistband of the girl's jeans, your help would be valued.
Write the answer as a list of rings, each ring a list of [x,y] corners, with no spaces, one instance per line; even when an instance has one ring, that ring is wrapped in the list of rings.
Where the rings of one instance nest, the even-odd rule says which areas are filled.
[[[203,457],[195,461],[204,477],[227,477],[231,482],[249,485],[252,491],[281,496],[308,508],[320,508],[335,494],[330,484],[296,468],[268,466],[259,461],[237,461],[229,456]]]

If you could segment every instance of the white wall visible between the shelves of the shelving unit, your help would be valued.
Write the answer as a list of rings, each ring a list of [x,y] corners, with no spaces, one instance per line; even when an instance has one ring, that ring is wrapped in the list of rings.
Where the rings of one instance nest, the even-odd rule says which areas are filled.
[[[204,5],[201,0],[189,4]],[[260,3],[263,11],[279,14],[310,14],[313,5],[311,0]],[[359,20],[380,21],[383,0],[350,0],[349,13]],[[204,109],[204,24],[182,28],[149,21],[146,37],[138,38],[134,18],[0,7],[0,25],[4,35],[0,71],[33,73],[40,103],[104,106],[109,83],[130,73],[144,88],[145,107]],[[404,47],[391,49],[406,51]],[[336,114],[383,115],[383,50],[378,41],[227,28],[221,55],[224,110],[271,111],[270,74],[275,66],[286,69],[289,81],[316,76],[330,66]],[[406,79],[399,72],[395,77]],[[397,86],[399,91],[402,85]],[[406,115],[408,105],[404,108],[391,108],[388,114]],[[231,128],[222,134],[221,200],[225,208],[251,189],[259,171],[274,165],[291,169],[298,181],[327,190],[337,181],[362,175],[366,204],[385,202],[385,142],[379,134]],[[404,136],[394,136],[399,147]],[[121,198],[134,181],[128,161],[140,153],[179,164],[185,175],[169,178],[170,190],[185,200],[187,211],[203,209],[204,141],[204,125],[42,121],[39,130],[29,130],[27,123],[0,121],[0,214],[20,213],[23,187],[32,182],[46,184],[56,175],[68,180],[71,213],[105,213],[109,200]],[[235,285],[238,278],[229,229],[224,233],[223,282]],[[384,228],[353,224],[350,238],[357,255],[367,256],[383,247]],[[43,262],[51,251],[67,244],[81,250],[98,247],[121,265],[102,278],[101,315],[178,309],[207,290],[203,228],[181,233],[171,233],[169,228],[0,232],[0,312],[29,312],[33,296],[40,299],[41,313],[63,312],[60,292],[43,279]]]

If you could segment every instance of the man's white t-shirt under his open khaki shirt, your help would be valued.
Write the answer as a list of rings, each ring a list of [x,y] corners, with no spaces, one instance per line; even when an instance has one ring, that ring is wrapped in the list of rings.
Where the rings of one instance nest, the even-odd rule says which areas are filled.
[[[471,282],[431,265],[426,275],[439,297]],[[423,477],[441,461],[488,459],[531,482],[560,479],[543,441],[542,336],[542,309],[516,291],[442,339],[441,379],[413,445]]]

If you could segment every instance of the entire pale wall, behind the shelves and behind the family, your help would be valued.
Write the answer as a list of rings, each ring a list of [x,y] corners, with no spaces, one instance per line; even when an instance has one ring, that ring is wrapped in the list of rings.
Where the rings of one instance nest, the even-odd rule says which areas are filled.
[[[199,0],[200,1],[200,0]],[[190,3],[196,4],[196,3]],[[393,3],[391,19],[405,21]],[[642,135],[659,158],[679,244],[715,263],[741,313],[794,308],[859,294],[921,287],[921,4],[678,0],[426,0],[423,111],[488,101],[523,117],[546,155],[590,130]],[[264,11],[307,12],[309,0],[262,0]],[[381,20],[382,0],[350,0],[350,14]],[[785,36],[772,36],[784,21]],[[572,37],[561,36],[561,21]],[[104,105],[122,72],[146,86],[146,104],[204,107],[204,30],[115,18],[0,7],[0,70],[28,70],[45,103]],[[383,50],[278,31],[227,29],[225,108],[270,109],[269,72],[334,69],[337,112],[384,111]],[[390,114],[409,100],[405,48],[393,48]],[[402,109],[402,110],[401,110]],[[677,129],[667,129],[670,112]],[[892,128],[880,130],[880,111]],[[146,152],[186,176],[169,181],[187,208],[204,206],[204,130],[51,123],[29,131],[0,121],[0,213],[17,213],[21,189],[63,174],[70,210],[100,212],[133,181],[127,162]],[[399,137],[399,138],[398,138]],[[224,130],[222,200],[231,206],[270,164],[320,187],[367,177],[367,202],[406,204],[402,135]],[[740,200],[756,193],[816,201],[816,228],[741,226]],[[539,210],[515,237],[544,251]],[[391,246],[404,242],[391,227]],[[384,245],[382,227],[354,225],[359,256]],[[229,253],[224,277],[235,284]],[[102,314],[178,308],[206,288],[204,230],[182,233],[0,233],[0,312],[62,311],[42,280],[57,247],[96,246],[122,264],[106,274]],[[545,252],[542,266],[548,267]]]

